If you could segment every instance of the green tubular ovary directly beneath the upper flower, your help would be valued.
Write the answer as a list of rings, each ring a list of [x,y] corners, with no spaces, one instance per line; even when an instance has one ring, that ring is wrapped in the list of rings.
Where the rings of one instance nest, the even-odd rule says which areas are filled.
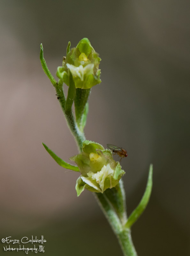
[[[83,131],[86,125],[86,118],[88,113],[88,97],[90,94],[90,89],[84,90],[77,88],[76,89],[76,96],[74,99],[74,106],[75,106],[75,116],[78,126]],[[84,115],[83,115],[84,114]]]

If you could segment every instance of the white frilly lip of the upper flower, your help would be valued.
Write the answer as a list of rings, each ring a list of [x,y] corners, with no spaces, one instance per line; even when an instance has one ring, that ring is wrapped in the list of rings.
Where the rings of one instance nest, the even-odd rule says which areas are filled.
[[[84,81],[85,75],[93,75],[94,74],[94,64],[88,64],[87,66],[83,67],[80,65],[79,67],[75,67],[69,63],[66,64],[67,68],[70,69],[73,77],[79,77],[81,81]]]

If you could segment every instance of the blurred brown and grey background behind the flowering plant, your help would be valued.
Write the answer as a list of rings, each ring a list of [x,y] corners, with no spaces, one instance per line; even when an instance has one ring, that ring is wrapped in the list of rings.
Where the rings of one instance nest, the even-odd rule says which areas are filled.
[[[77,198],[79,174],[42,146],[65,161],[77,154],[40,43],[55,75],[68,41],[87,37],[102,58],[102,83],[92,88],[86,138],[127,149],[128,215],[154,166],[150,202],[132,227],[138,255],[189,255],[189,8],[179,0],[1,1],[1,239],[43,235],[47,256],[122,255],[92,193]],[[16,253],[0,245],[0,254]]]

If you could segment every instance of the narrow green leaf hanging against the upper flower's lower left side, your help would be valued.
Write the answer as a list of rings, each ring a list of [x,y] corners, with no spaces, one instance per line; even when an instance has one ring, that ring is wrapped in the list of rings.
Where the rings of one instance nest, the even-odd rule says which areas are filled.
[[[65,112],[71,111],[75,95],[76,95],[76,87],[75,87],[75,83],[74,83],[72,74],[69,70],[69,89],[68,89],[68,93],[67,93],[67,99],[65,102]]]

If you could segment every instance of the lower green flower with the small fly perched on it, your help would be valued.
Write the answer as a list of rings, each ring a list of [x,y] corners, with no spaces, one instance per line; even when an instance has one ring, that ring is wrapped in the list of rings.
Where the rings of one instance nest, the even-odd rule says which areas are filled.
[[[125,172],[119,162],[115,162],[112,153],[102,145],[89,140],[83,141],[82,153],[70,157],[80,170],[76,191],[79,196],[86,188],[92,192],[103,193],[107,188],[115,187]]]

